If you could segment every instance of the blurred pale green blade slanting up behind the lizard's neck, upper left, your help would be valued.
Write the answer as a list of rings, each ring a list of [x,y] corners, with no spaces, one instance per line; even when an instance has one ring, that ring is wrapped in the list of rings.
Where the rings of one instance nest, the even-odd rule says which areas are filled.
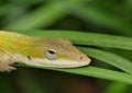
[[[40,7],[38,9],[25,14],[23,18],[4,25],[6,30],[32,30],[36,27],[45,27],[53,24],[56,20],[65,15],[62,3],[55,2],[47,5]]]

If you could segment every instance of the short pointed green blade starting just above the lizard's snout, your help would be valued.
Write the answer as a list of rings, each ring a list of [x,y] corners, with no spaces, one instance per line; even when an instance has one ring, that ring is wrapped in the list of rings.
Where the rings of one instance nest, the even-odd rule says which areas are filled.
[[[94,48],[84,48],[84,47],[78,47],[78,48],[82,50],[85,54],[87,54],[88,56],[102,60],[103,62],[107,62],[111,66],[114,66],[132,74],[132,62],[116,54],[100,50],[100,49],[94,49]]]

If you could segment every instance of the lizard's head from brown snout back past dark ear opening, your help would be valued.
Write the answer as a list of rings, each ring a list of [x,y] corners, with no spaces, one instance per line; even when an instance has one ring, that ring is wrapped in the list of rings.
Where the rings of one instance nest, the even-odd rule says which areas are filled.
[[[36,38],[29,47],[26,55],[14,56],[25,65],[75,68],[90,63],[90,58],[79,51],[65,38]]]

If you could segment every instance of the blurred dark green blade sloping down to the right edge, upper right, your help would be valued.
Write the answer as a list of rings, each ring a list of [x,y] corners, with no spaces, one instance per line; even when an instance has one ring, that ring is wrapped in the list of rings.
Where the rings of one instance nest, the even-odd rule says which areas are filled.
[[[79,5],[79,7],[72,5],[70,11],[73,11],[72,13],[82,19],[84,21],[88,21],[88,22],[91,21],[94,23],[97,23],[98,25],[111,27],[111,30],[116,30],[116,32],[123,35],[129,35],[129,36],[132,35],[131,23],[125,22],[112,14],[108,14],[108,12],[102,12],[101,10],[98,10],[96,8],[84,7],[84,5]]]

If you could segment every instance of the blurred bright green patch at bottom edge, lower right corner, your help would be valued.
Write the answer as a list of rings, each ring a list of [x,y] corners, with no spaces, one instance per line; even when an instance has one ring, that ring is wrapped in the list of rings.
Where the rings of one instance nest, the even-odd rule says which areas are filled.
[[[121,82],[112,82],[108,84],[103,93],[127,93],[129,85]]]

